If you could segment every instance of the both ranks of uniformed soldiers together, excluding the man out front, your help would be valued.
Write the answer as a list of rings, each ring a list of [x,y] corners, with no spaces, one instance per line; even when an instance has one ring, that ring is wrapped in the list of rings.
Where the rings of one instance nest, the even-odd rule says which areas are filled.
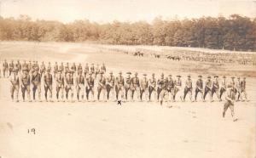
[[[79,63],[57,63],[52,66],[50,62],[40,65],[38,61],[19,60],[3,62],[3,77],[9,77],[10,95],[13,101],[19,101],[21,92],[23,101],[159,101],[165,102],[218,101],[225,99],[226,93],[232,91],[235,101],[247,100],[246,77],[198,76],[195,85],[191,76],[172,76],[154,73],[132,74],[119,71],[117,76],[108,71],[106,65]],[[185,78],[182,80],[181,78]],[[185,82],[183,82],[185,81]],[[42,89],[44,88],[44,99]],[[32,91],[32,92],[31,92]],[[32,98],[31,98],[32,94]],[[53,96],[55,94],[55,96]]]

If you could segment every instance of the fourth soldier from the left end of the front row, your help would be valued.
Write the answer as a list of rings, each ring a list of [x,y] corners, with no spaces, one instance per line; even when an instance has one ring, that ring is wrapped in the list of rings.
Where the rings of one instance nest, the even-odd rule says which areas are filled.
[[[52,101],[52,82],[53,82],[53,77],[50,74],[50,68],[47,68],[46,74],[44,74],[44,97],[46,101],[48,101],[48,91],[49,91],[49,99]]]

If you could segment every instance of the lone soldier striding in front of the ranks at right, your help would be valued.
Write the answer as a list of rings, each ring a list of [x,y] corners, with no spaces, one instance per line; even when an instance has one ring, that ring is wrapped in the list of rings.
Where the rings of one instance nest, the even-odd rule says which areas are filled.
[[[226,99],[226,102],[224,103],[224,110],[222,113],[223,117],[225,116],[225,113],[228,110],[228,108],[230,108],[233,121],[237,121],[235,117],[235,112],[234,112],[235,92],[234,92],[234,87],[232,85],[228,85],[228,90],[227,90],[225,99]]]

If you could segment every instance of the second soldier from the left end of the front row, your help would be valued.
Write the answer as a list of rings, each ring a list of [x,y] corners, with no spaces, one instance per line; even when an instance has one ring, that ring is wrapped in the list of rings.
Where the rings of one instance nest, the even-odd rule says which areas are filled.
[[[21,93],[22,99],[25,101],[25,93],[27,94],[27,99],[31,102],[30,99],[30,76],[29,72],[26,68],[23,68],[23,73],[20,76],[20,85],[21,85]]]

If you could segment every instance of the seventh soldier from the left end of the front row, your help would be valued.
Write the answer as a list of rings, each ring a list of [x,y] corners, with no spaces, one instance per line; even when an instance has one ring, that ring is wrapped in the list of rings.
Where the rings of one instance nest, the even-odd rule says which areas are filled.
[[[79,73],[79,76],[77,76],[76,78],[76,89],[77,89],[77,99],[80,101],[80,98],[79,98],[80,94],[81,94],[82,100],[84,100],[85,80],[84,80],[84,76],[82,76],[83,71],[79,70],[78,73]]]

